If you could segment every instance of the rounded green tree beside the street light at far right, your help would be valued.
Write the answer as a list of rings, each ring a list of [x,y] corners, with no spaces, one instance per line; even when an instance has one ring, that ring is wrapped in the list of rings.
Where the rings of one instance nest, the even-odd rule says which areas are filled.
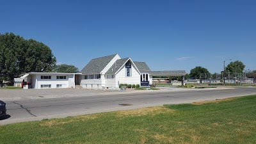
[[[225,72],[243,72],[245,65],[241,61],[232,61],[225,68]]]

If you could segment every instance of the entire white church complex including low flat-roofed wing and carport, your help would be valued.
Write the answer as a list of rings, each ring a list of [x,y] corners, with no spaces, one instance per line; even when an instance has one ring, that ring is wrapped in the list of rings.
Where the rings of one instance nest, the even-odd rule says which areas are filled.
[[[153,76],[182,76],[184,70],[151,71],[145,62],[120,58],[118,54],[92,59],[79,74],[29,72],[24,74],[25,88],[118,88],[119,84],[149,87]],[[180,83],[184,84],[184,83]]]

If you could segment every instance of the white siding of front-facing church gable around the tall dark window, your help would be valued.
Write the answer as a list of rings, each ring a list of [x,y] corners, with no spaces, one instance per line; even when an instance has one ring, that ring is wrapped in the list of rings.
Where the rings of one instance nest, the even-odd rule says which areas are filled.
[[[132,76],[125,77],[125,65],[121,68],[121,70],[116,74],[116,88],[118,88],[119,84],[140,84],[140,72],[138,72],[132,63]]]

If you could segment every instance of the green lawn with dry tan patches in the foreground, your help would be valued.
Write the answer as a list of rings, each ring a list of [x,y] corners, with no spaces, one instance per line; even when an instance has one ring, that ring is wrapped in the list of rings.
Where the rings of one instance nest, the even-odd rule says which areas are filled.
[[[256,95],[0,125],[0,143],[256,143]]]

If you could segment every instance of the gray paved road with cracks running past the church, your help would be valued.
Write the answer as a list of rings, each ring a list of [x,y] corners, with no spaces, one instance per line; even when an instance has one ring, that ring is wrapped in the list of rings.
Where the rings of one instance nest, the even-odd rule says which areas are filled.
[[[0,124],[42,120],[44,118],[62,118],[104,111],[145,108],[148,106],[162,106],[163,104],[180,104],[202,100],[224,99],[252,94],[256,94],[255,87],[226,90],[186,90],[179,92],[165,90],[162,92],[156,91],[122,95],[10,100],[6,102],[8,115],[1,118]]]

